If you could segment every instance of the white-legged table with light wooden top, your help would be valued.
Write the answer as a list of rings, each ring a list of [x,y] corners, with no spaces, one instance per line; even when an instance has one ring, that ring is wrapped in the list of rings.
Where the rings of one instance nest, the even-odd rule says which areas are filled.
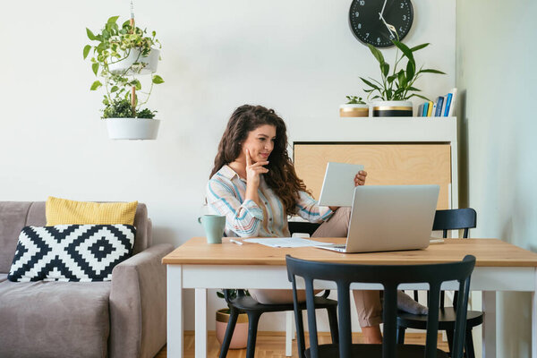
[[[328,241],[323,238],[323,241]],[[333,240],[338,242],[337,239]],[[423,251],[342,254],[313,248],[272,249],[253,243],[243,246],[224,240],[209,245],[204,238],[193,238],[163,259],[167,265],[167,354],[183,357],[183,288],[195,289],[195,356],[207,357],[207,289],[273,288],[290,289],[285,255],[289,253],[306,260],[345,263],[431,263],[461,260],[473,254],[471,289],[483,292],[482,329],[483,356],[496,354],[496,292],[531,292],[532,357],[537,358],[537,254],[494,239],[452,239],[445,244],[431,245]],[[283,262],[283,264],[282,264]],[[316,286],[317,288],[317,286]],[[334,289],[335,286],[319,286]],[[354,284],[353,288],[378,289],[378,286]],[[425,286],[405,286],[426,289]],[[455,284],[445,286],[456,289]]]

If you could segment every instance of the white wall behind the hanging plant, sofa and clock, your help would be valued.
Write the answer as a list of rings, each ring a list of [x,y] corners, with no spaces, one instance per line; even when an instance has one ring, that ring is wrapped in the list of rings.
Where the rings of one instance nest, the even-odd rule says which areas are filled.
[[[102,94],[89,90],[94,76],[82,47],[85,27],[98,30],[117,14],[125,20],[129,2],[6,2],[0,200],[139,200],[148,204],[156,242],[178,246],[201,235],[196,217],[205,183],[235,107],[274,107],[292,138],[342,121],[337,110],[345,95],[363,97],[358,76],[378,76],[369,50],[349,30],[350,3],[136,0],[137,24],[156,30],[164,45],[158,73],[166,83],[149,102],[164,122],[158,141],[109,141],[98,119]],[[433,98],[455,85],[455,2],[413,4],[405,42],[431,42],[418,63],[447,72],[418,84]],[[209,296],[211,309],[223,306]],[[188,300],[192,308],[193,295]],[[283,329],[267,323],[263,328]],[[193,328],[192,316],[185,328]]]

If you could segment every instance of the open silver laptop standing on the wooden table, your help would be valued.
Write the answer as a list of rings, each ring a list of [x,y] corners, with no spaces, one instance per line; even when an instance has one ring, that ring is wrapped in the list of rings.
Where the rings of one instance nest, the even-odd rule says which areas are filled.
[[[425,249],[439,190],[439,185],[357,186],[346,244],[315,247],[339,252]]]

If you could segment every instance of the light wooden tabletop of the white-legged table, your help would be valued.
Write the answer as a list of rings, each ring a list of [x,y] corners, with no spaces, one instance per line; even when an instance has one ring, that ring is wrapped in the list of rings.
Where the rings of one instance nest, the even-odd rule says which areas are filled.
[[[242,240],[237,238],[236,240]],[[345,237],[313,239],[325,243],[345,243]],[[537,267],[537,253],[524,250],[498,239],[447,239],[446,243],[430,245],[425,250],[340,253],[315,247],[274,248],[259,243],[237,245],[228,237],[222,244],[208,244],[205,237],[194,237],[168,253],[164,264],[201,265],[286,265],[286,254],[304,260],[358,263],[371,265],[413,265],[476,258],[476,266]]]

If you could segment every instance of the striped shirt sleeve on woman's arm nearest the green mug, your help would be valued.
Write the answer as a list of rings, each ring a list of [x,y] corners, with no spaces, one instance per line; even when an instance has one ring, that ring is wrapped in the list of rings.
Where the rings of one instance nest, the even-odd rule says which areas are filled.
[[[253,200],[237,199],[232,183],[212,178],[207,184],[207,203],[219,215],[226,216],[226,228],[239,237],[257,236],[263,211]]]

